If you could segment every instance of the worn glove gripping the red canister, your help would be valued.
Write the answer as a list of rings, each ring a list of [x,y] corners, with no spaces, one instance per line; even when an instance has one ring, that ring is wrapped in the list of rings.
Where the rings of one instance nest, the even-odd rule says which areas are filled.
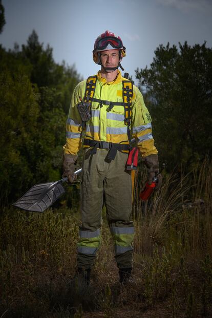
[[[148,183],[152,184],[153,177],[157,177],[155,190],[159,189],[162,185],[162,176],[159,173],[158,155],[150,155],[144,158],[144,163],[147,167]]]

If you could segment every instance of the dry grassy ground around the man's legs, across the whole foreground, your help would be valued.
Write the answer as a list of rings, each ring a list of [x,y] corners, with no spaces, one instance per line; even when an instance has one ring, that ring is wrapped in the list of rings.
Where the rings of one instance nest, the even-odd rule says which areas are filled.
[[[5,209],[0,232],[0,317],[211,317],[212,166],[164,175],[146,204],[136,178],[133,282],[121,286],[103,211],[91,286],[74,278],[79,216]],[[200,200],[201,199],[201,200]]]

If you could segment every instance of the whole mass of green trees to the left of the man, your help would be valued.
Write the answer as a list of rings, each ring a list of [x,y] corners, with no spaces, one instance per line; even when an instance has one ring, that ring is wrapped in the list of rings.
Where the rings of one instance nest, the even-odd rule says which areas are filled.
[[[22,51],[17,44],[8,52],[0,46],[0,74],[0,205],[5,205],[35,183],[61,178],[66,117],[80,78],[74,67],[55,63],[52,48],[44,49],[35,31]]]

